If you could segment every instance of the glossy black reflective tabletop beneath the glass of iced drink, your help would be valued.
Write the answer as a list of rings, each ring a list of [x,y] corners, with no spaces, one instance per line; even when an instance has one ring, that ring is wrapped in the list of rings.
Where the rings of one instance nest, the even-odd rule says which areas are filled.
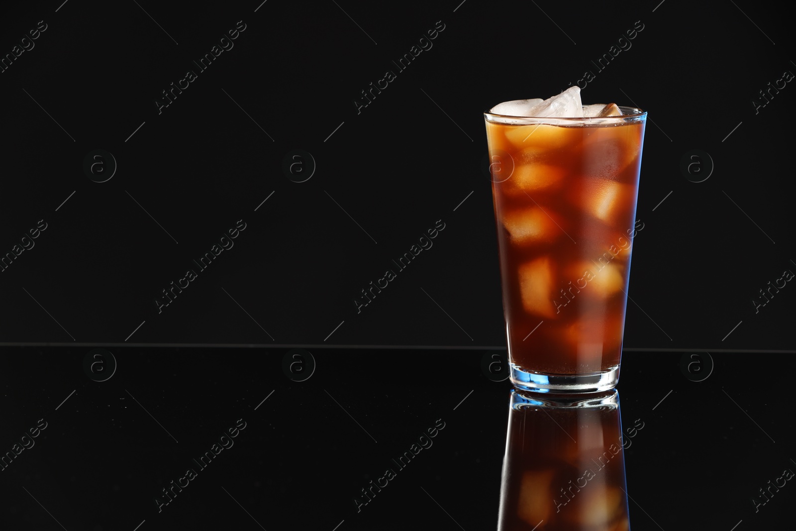
[[[503,351],[4,353],[0,450],[19,449],[0,471],[8,529],[497,527]],[[793,487],[767,502],[759,489],[796,470],[794,369],[771,353],[624,353],[631,528],[782,529]],[[547,435],[529,430],[525,444]],[[387,469],[395,476],[363,498]],[[185,488],[169,502],[171,482]]]

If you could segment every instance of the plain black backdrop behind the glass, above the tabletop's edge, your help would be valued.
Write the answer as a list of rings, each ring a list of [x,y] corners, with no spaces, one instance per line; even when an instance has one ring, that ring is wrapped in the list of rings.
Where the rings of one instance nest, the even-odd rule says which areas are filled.
[[[588,69],[585,103],[650,112],[625,345],[793,349],[790,284],[757,314],[751,302],[796,271],[790,84],[751,103],[796,70],[774,4],[139,4],[2,19],[3,53],[47,29],[0,73],[0,252],[48,224],[0,273],[3,342],[505,345],[482,111]],[[237,21],[234,47],[199,71]],[[433,47],[399,71],[437,21]],[[615,44],[630,49],[600,72],[591,61]],[[158,114],[188,69],[197,79]],[[396,79],[357,114],[387,70]],[[96,149],[117,162],[107,182],[84,174]],[[295,149],[317,166],[306,182],[283,172]],[[699,183],[680,170],[695,149],[714,166]],[[234,247],[158,313],[240,219]],[[437,220],[434,247],[357,314],[361,289]]]

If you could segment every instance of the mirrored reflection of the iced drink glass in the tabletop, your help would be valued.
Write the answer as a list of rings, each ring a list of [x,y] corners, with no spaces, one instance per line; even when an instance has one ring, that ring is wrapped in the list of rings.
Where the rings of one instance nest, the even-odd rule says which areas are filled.
[[[629,531],[619,396],[511,392],[498,531]]]

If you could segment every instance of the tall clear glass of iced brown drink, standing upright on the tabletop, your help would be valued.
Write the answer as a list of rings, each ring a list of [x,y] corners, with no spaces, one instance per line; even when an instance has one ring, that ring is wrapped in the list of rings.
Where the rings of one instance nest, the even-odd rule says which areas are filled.
[[[486,112],[511,381],[595,392],[619,378],[646,112]]]

